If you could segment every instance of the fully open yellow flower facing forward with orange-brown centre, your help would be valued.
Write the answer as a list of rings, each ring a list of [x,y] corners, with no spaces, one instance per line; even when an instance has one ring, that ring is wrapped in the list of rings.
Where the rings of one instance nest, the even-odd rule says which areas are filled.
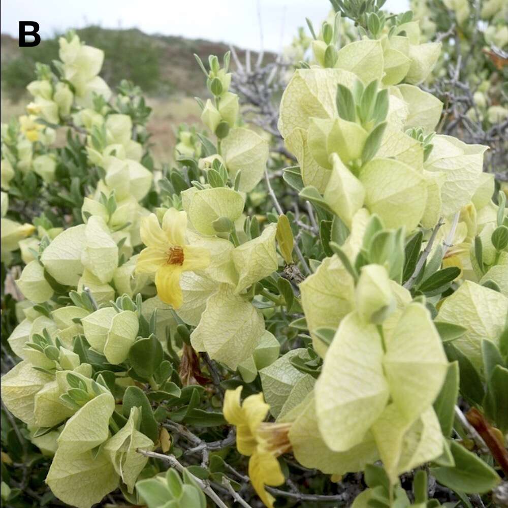
[[[158,297],[178,309],[183,302],[180,276],[186,271],[204,270],[210,264],[210,252],[187,245],[187,214],[170,208],[162,228],[155,214],[141,219],[140,235],[146,245],[136,263],[138,273],[155,274]]]

